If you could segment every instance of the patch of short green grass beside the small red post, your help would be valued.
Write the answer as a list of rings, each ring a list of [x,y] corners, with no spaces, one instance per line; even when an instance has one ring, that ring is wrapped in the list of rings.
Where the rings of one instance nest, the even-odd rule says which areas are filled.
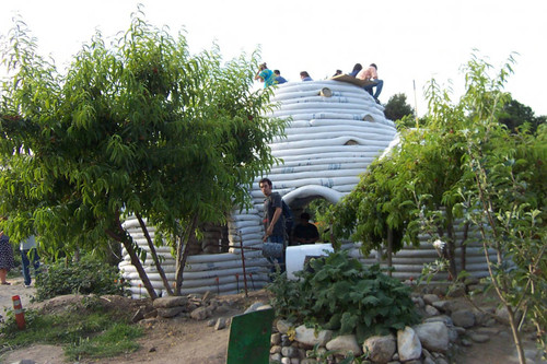
[[[0,327],[0,354],[45,343],[62,345],[70,360],[110,357],[139,349],[136,339],[142,336],[142,329],[130,325],[127,315],[105,312],[100,306],[51,315],[25,310],[25,330],[18,329],[13,312],[7,316],[5,325]]]

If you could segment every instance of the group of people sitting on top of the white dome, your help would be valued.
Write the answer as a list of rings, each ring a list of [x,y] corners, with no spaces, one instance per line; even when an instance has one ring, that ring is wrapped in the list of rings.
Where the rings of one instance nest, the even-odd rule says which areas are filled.
[[[341,75],[341,70],[336,70],[336,73],[333,77]],[[376,103],[380,103],[377,97],[382,93],[382,89],[384,86],[384,81],[377,78],[377,66],[375,63],[371,63],[368,68],[363,68],[361,63],[356,63],[353,69],[348,75],[354,77],[357,79],[361,79],[364,81],[370,81],[366,85],[363,86],[364,91],[366,91]],[[300,72],[300,79],[302,81],[313,81],[307,71]],[[271,71],[268,69],[266,63],[261,63],[259,66],[258,72],[256,72],[255,80],[259,80],[264,82],[264,87],[272,86],[275,84],[286,83],[287,80],[281,75],[279,70]],[[373,89],[376,89],[373,92]]]

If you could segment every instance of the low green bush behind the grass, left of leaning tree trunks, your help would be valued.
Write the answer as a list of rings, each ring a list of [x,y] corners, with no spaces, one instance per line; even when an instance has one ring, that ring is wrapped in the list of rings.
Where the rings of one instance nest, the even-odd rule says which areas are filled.
[[[80,261],[57,261],[36,280],[36,300],[44,301],[71,293],[124,294],[124,281],[116,267],[92,256]]]

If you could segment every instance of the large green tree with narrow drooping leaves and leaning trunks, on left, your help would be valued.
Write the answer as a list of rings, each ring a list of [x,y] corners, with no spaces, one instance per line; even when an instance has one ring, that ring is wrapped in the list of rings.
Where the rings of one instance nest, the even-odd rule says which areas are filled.
[[[198,222],[249,202],[284,122],[263,116],[269,91],[253,91],[257,52],[225,63],[217,47],[190,55],[183,34],[141,15],[108,45],[96,33],[62,74],[14,24],[2,57],[0,213],[14,238],[33,230],[53,249],[120,242],[155,297],[124,219],[140,222],[168,293],[147,223],[177,251],[178,293]]]

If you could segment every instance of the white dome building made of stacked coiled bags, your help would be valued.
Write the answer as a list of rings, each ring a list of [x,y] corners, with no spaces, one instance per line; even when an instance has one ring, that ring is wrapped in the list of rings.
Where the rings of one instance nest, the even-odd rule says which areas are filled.
[[[397,143],[395,125],[385,118],[383,106],[362,87],[351,83],[334,80],[289,82],[276,87],[272,102],[278,103],[279,108],[270,116],[288,118],[290,122],[286,137],[270,144],[272,155],[282,163],[265,172],[264,177],[271,179],[274,190],[281,195],[296,216],[314,199],[337,203],[356,187],[371,162]],[[261,255],[264,196],[258,187],[260,178],[249,191],[252,209],[240,211],[235,208],[226,226],[200,226],[205,237],[195,242],[197,248],[187,259],[183,294],[207,291],[233,294],[247,287],[258,290],[269,282],[269,262]],[[149,250],[136,219],[127,220],[125,227],[141,249]],[[153,227],[150,232],[153,235]],[[457,236],[463,234],[463,231],[456,231]],[[347,242],[342,248],[363,263],[385,265],[376,251],[363,257],[359,243]],[[160,247],[158,253],[163,257],[162,267],[173,283],[175,259],[171,248]],[[466,254],[466,269],[475,277],[486,275],[480,248],[467,245]],[[393,257],[393,275],[400,279],[418,277],[423,263],[437,258],[437,250],[422,237],[419,248],[403,249]],[[147,259],[143,266],[156,293],[165,294],[152,260]],[[127,254],[119,268],[130,283],[132,296],[146,296]]]

